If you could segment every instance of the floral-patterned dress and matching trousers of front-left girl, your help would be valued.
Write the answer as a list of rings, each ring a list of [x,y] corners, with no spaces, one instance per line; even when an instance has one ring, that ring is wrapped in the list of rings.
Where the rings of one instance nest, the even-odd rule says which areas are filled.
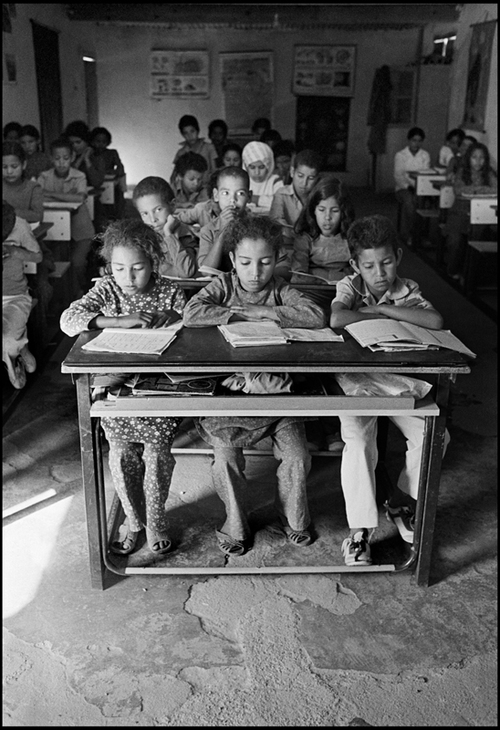
[[[151,290],[133,296],[124,294],[112,276],[103,277],[62,313],[61,329],[74,337],[88,331],[89,322],[98,314],[113,317],[155,309],[174,309],[180,314],[186,303],[184,292],[168,279],[152,276]],[[101,419],[109,442],[113,483],[134,532],[145,526],[155,535],[166,532],[165,502],[175,466],[170,447],[181,420],[149,416]]]

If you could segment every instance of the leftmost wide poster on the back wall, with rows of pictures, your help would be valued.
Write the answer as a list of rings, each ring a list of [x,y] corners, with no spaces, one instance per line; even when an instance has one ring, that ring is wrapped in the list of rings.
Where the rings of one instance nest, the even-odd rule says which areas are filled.
[[[151,51],[150,96],[154,99],[208,99],[208,51]]]

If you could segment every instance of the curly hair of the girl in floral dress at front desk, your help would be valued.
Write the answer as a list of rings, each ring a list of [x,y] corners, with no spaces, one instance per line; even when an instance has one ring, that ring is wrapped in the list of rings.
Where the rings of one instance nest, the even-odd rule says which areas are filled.
[[[163,259],[160,237],[152,228],[137,218],[122,218],[112,221],[106,229],[99,234],[101,246],[98,255],[106,261],[111,262],[113,249],[116,246],[135,248],[142,251],[151,262],[154,271],[158,271]]]

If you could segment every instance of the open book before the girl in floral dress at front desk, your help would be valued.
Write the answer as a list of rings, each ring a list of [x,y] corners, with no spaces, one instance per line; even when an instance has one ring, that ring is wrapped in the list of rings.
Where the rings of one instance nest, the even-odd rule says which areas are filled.
[[[95,339],[82,345],[82,350],[161,355],[175,339],[181,327],[182,321],[156,329],[106,327]]]

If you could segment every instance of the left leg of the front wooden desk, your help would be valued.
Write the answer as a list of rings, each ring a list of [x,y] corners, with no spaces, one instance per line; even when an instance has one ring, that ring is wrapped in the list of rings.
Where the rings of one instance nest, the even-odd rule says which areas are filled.
[[[97,475],[99,465],[98,449],[96,449],[95,429],[90,418],[90,375],[76,376],[76,393],[78,402],[78,425],[80,429],[80,453],[82,460],[83,493],[85,497],[85,514],[87,519],[87,539],[89,545],[90,581],[92,588],[104,588],[106,567],[102,544],[101,510]]]

